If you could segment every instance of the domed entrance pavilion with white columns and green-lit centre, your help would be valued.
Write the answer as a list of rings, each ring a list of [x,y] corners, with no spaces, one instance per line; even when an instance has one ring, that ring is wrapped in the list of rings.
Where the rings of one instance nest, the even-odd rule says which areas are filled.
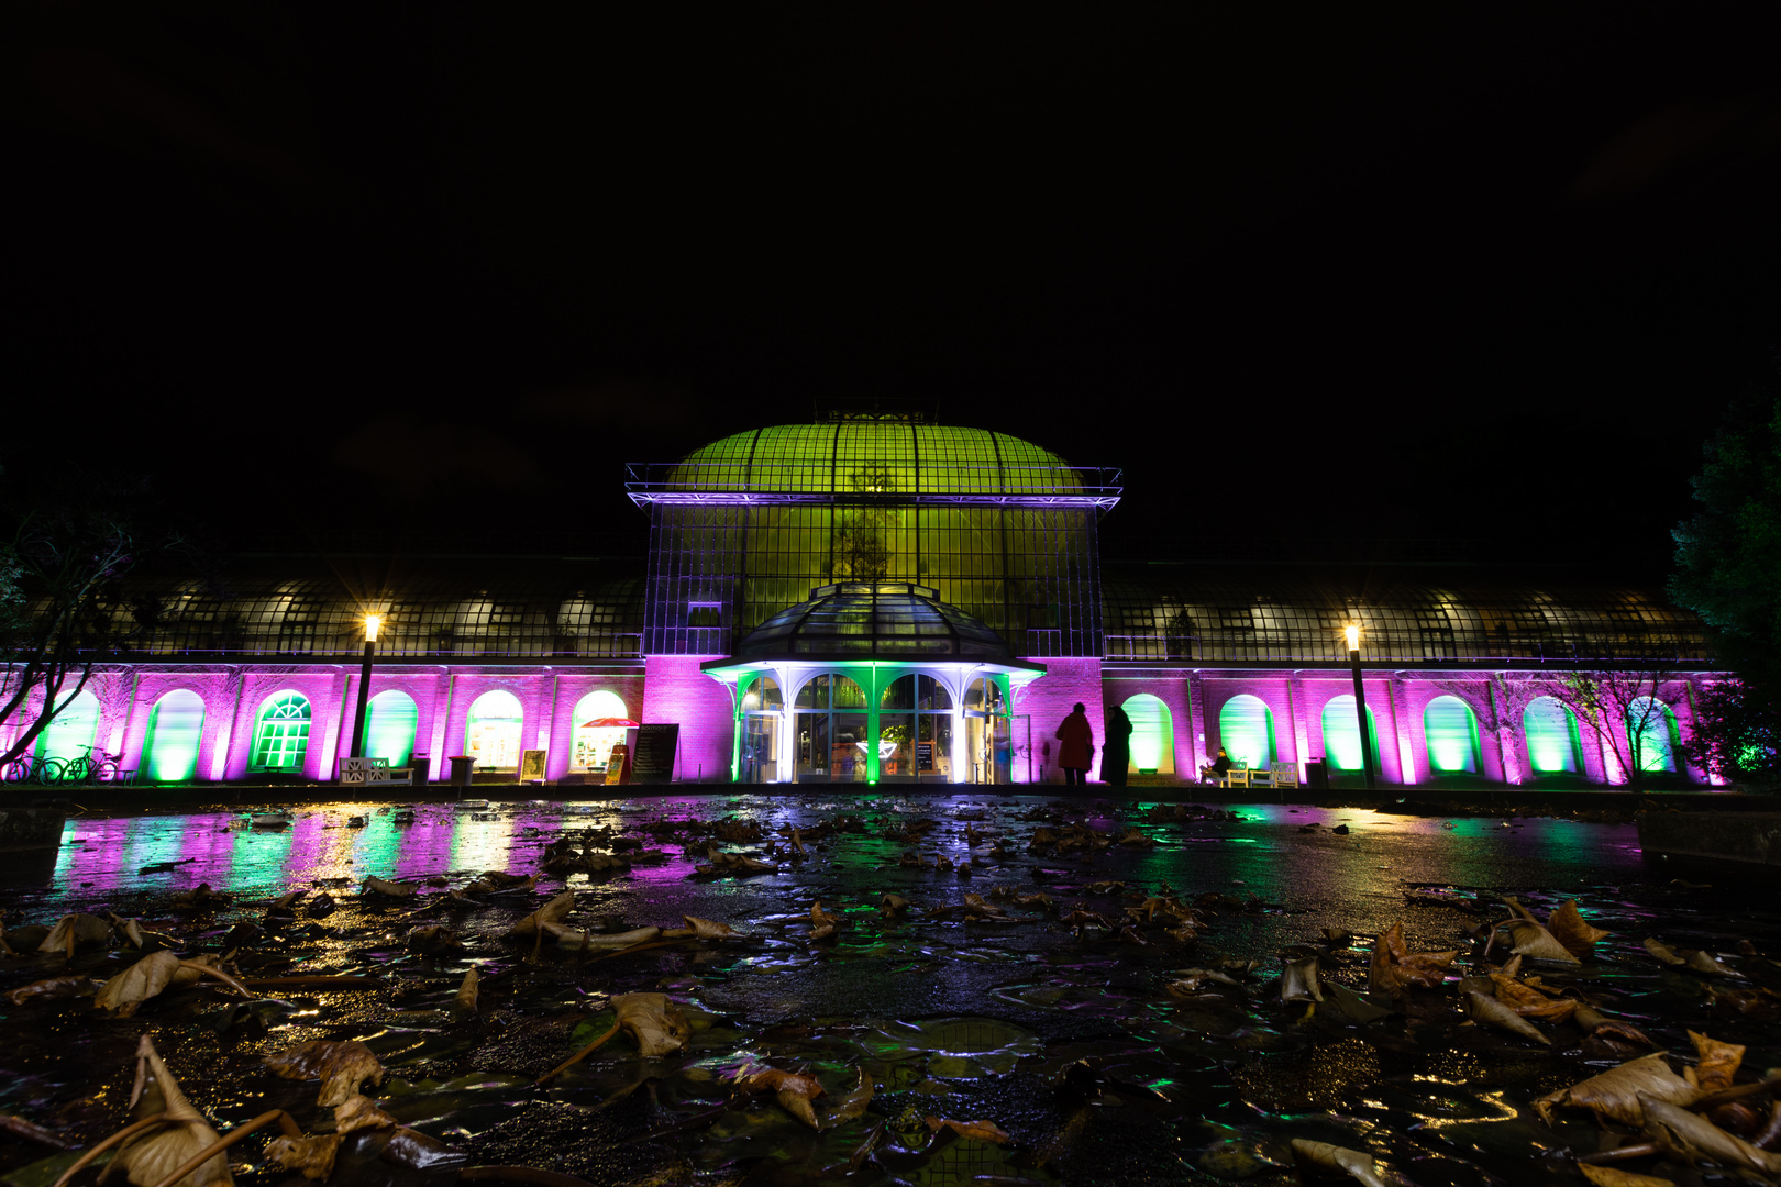
[[[700,664],[728,685],[737,783],[1010,783],[1045,674],[935,589],[837,582]]]

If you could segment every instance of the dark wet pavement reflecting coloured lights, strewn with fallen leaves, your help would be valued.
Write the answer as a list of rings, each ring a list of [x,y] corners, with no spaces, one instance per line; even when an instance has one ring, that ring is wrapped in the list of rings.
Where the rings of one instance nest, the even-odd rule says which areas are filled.
[[[793,828],[803,854],[789,852]],[[777,872],[698,874],[707,847]],[[386,1068],[367,1087],[378,1107],[456,1153],[422,1169],[344,1157],[338,1187],[447,1183],[467,1164],[593,1183],[1279,1183],[1293,1180],[1295,1137],[1368,1151],[1387,1182],[1530,1169],[1583,1182],[1569,1155],[1596,1151],[1601,1128],[1587,1112],[1549,1126],[1530,1102],[1651,1048],[1573,1023],[1541,1023],[1548,1046],[1466,1021],[1453,986],[1507,957],[1485,961],[1475,933],[1509,915],[1509,895],[1541,918],[1576,899],[1610,933],[1580,965],[1542,966],[1546,991],[1587,998],[1678,1066],[1692,1059],[1690,1029],[1745,1045],[1744,1078],[1781,1066],[1781,1009],[1761,997],[1781,988],[1767,959],[1781,957],[1772,876],[1671,868],[1639,851],[1631,824],[1038,795],[664,795],[333,804],[299,808],[283,828],[255,828],[239,808],[77,819],[53,861],[16,861],[0,879],[9,936],[116,913],[182,956],[285,981],[253,986],[264,997],[251,1002],[205,981],[134,1018],[91,997],[0,1004],[0,1110],[71,1148],[96,1143],[128,1119],[148,1034],[219,1130],[278,1107],[328,1132],[315,1082],[276,1078],[264,1057],[356,1039]],[[490,870],[541,877],[463,893]],[[419,893],[362,893],[367,877]],[[199,886],[224,899],[180,902]],[[563,890],[575,900],[556,943],[506,934]],[[889,909],[885,895],[908,906]],[[814,902],[837,916],[826,938]],[[593,947],[682,916],[736,934]],[[1364,1023],[1334,995],[1281,1002],[1282,959],[1309,956],[1325,986],[1366,991],[1373,940],[1393,924],[1411,952],[1459,950],[1443,989],[1386,1000],[1395,1013]],[[1667,966],[1647,936],[1724,954],[1733,975]],[[98,982],[139,956],[103,943],[71,959],[14,956],[0,989]],[[470,968],[474,1009],[456,1002]],[[340,975],[372,981],[301,981]],[[613,1030],[609,1002],[625,993],[666,995],[686,1018],[684,1050],[647,1059],[622,1032],[538,1084]],[[821,1128],[773,1091],[748,1091],[764,1070],[821,1084]],[[20,1187],[50,1187],[73,1160],[28,1139],[0,1146]],[[303,1182],[258,1139],[230,1157],[237,1182]]]

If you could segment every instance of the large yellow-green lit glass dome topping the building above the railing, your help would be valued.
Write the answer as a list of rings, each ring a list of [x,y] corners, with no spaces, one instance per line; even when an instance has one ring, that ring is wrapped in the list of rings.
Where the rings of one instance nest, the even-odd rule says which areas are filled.
[[[1067,461],[1031,441],[908,420],[834,420],[737,432],[687,454],[684,491],[1019,495],[1081,489]]]

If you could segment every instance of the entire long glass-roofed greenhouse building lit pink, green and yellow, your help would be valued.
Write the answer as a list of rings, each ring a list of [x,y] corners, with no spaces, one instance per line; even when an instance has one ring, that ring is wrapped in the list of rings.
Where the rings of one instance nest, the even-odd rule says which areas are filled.
[[[94,657],[34,753],[98,747],[153,783],[331,779],[378,614],[365,753],[431,779],[454,755],[511,779],[543,751],[547,781],[600,781],[636,721],[679,726],[686,781],[1049,783],[1078,701],[1097,747],[1124,708],[1133,781],[1191,781],[1220,747],[1305,778],[1361,765],[1359,625],[1386,783],[1622,783],[1633,739],[1647,774],[1708,781],[1678,744],[1722,673],[1653,591],[1496,566],[1104,562],[1118,470],[919,415],[728,436],[629,466],[627,493],[641,559],[258,555],[137,584],[112,607],[128,650]],[[1642,699],[1590,719],[1578,678]]]

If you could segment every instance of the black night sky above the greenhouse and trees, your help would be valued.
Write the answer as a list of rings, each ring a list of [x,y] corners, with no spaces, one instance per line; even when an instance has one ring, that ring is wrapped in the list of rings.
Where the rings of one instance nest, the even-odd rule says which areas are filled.
[[[1115,550],[1662,566],[1781,351],[1774,43],[1697,9],[14,4],[0,461],[641,543],[620,463],[921,399],[1124,466]]]

